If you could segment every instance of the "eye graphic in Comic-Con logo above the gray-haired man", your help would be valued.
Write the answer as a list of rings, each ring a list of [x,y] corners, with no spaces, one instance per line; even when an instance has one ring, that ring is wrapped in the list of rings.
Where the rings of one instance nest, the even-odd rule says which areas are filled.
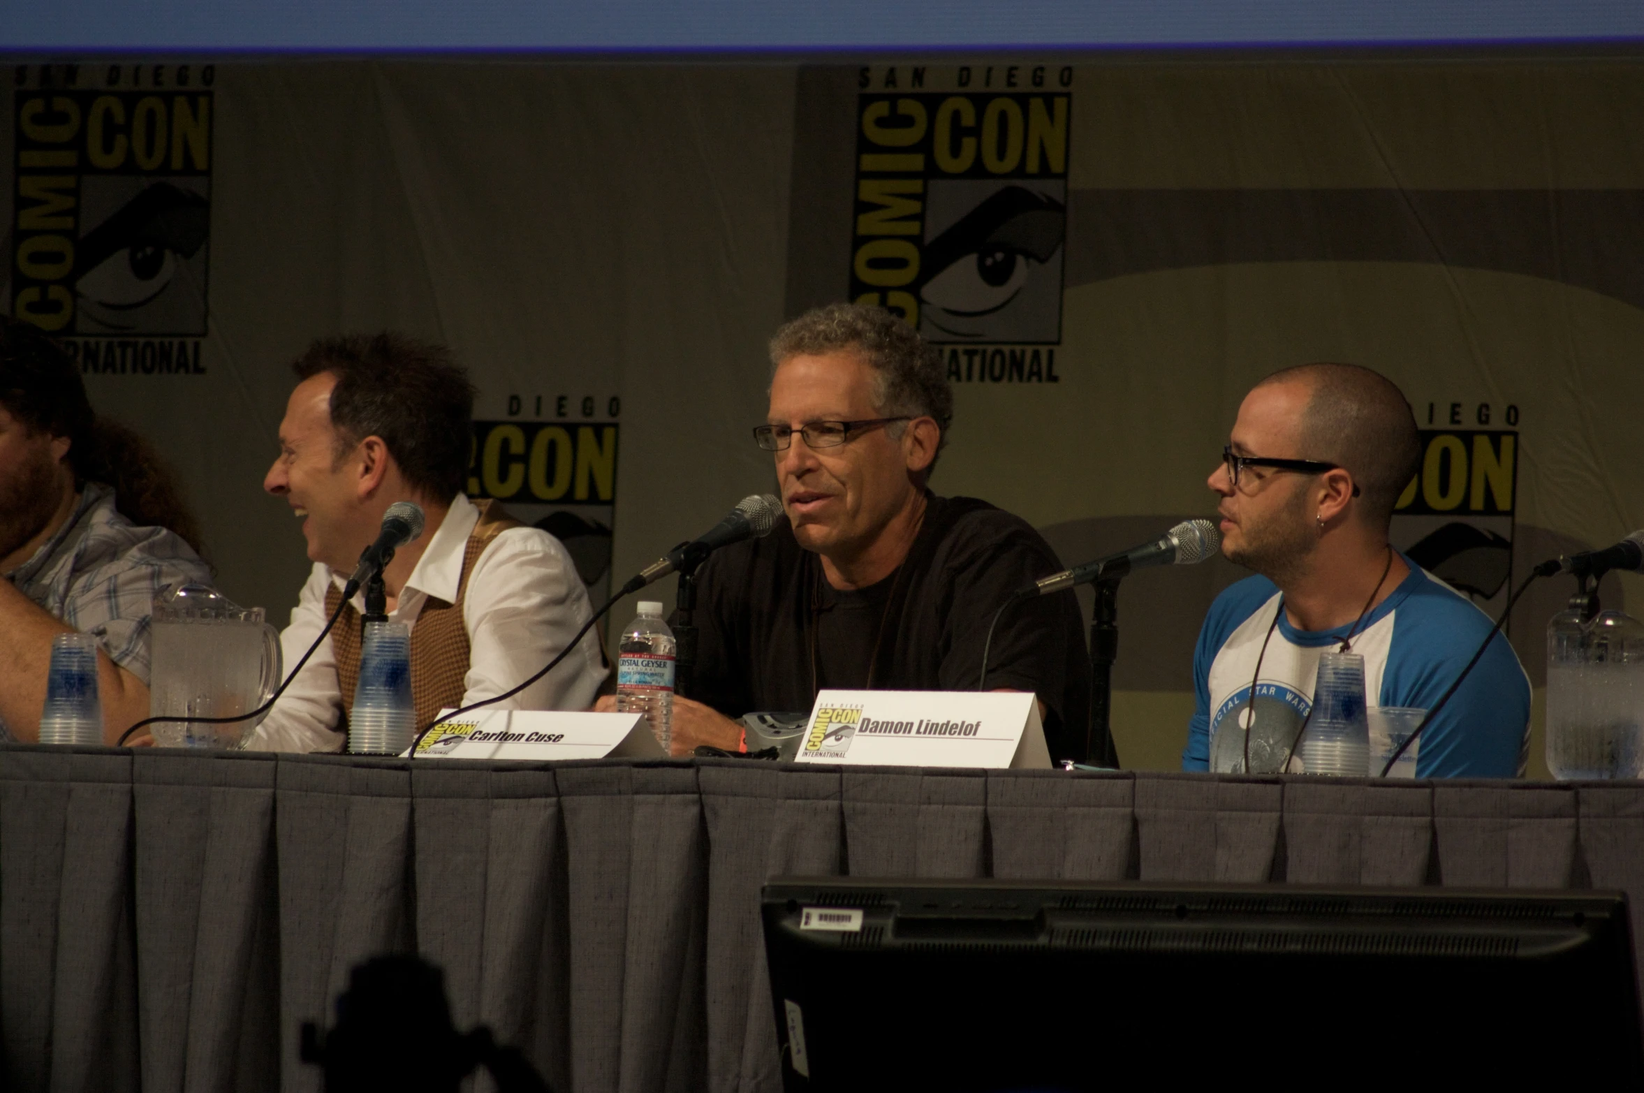
[[[934,340],[1054,342],[1062,321],[1064,182],[1036,189],[991,182],[932,182],[939,214],[988,196],[926,243],[921,332]],[[1059,191],[1055,196],[1046,189]]]

